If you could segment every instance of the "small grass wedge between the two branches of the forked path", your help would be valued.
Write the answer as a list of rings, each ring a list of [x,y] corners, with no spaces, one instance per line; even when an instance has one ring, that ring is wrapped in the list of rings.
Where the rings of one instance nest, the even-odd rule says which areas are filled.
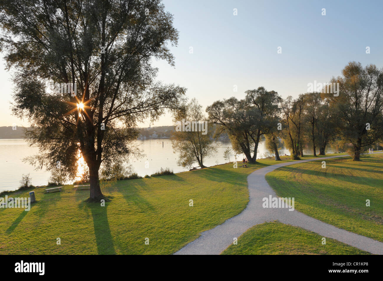
[[[279,222],[253,226],[240,237],[238,244],[231,245],[222,255],[363,255],[359,250],[334,239],[296,226]]]

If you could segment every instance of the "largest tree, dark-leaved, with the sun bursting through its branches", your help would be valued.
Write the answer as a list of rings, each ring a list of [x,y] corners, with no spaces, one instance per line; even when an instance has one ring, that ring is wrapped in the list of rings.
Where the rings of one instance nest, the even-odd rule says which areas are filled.
[[[98,171],[126,158],[137,121],[177,110],[185,89],[155,82],[151,61],[174,57],[172,15],[160,0],[3,0],[0,47],[15,69],[13,112],[27,118],[28,140],[41,153],[31,162],[74,175],[82,154],[90,200],[105,198]],[[77,93],[56,93],[76,83]],[[116,127],[123,128],[117,130]]]

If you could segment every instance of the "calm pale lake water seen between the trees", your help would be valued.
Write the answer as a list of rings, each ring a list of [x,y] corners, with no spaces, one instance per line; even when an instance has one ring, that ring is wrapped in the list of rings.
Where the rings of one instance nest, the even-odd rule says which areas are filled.
[[[162,141],[164,146],[162,147]],[[177,166],[178,153],[173,153],[172,143],[169,139],[152,139],[152,140],[137,140],[136,144],[146,156],[141,159],[131,159],[128,164],[132,164],[134,171],[140,176],[146,174],[151,175],[162,168],[173,169],[173,172],[187,171],[183,167]],[[231,147],[229,142],[216,142],[217,153],[205,159],[205,166],[213,166],[227,162],[223,158],[223,153],[227,147]],[[273,155],[265,149],[265,141],[259,143],[259,153],[257,158],[264,158],[267,155]],[[334,152],[331,148],[326,149],[326,153]],[[0,140],[0,192],[2,190],[16,190],[20,186],[21,176],[30,173],[33,185],[46,185],[50,173],[43,170],[34,170],[34,167],[24,163],[23,158],[38,153],[35,147],[29,147],[28,143],[22,139],[15,140]],[[280,155],[290,155],[289,151],[282,147]],[[312,150],[305,149],[305,154],[313,154]],[[319,151],[317,152],[319,153]],[[237,161],[242,161],[244,155],[238,154]],[[234,156],[231,157],[234,161]],[[149,167],[145,167],[145,162],[148,162]],[[197,164],[195,164],[197,166]]]

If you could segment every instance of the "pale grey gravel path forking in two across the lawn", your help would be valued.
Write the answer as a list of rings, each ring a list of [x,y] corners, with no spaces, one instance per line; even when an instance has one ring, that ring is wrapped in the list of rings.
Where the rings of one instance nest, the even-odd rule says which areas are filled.
[[[336,239],[345,244],[349,244],[358,249],[373,253],[383,254],[383,243],[371,238],[355,234],[344,229],[339,229],[318,219],[311,218],[296,210],[289,211],[288,208],[263,208],[262,199],[264,197],[277,197],[274,190],[268,185],[265,175],[279,167],[315,161],[330,158],[339,158],[344,156],[328,156],[294,162],[283,162],[267,166],[252,172],[247,177],[249,188],[249,203],[242,213],[234,216],[223,224],[201,233],[201,236],[187,244],[175,255],[219,255],[223,250],[233,243],[234,237],[239,237],[247,229],[256,224],[274,221],[278,219],[285,224],[299,226],[319,235]],[[293,196],[292,196],[293,197]],[[241,239],[238,240],[240,243]],[[321,241],[319,241],[321,242]],[[318,243],[319,243],[318,242]]]

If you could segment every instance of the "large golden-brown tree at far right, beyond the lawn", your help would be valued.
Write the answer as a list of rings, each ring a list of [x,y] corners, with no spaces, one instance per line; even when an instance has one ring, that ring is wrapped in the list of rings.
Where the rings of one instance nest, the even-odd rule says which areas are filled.
[[[338,112],[337,133],[345,143],[352,143],[354,160],[359,161],[362,148],[383,136],[383,70],[350,62],[331,83],[339,83],[340,89],[339,96],[327,94]]]

